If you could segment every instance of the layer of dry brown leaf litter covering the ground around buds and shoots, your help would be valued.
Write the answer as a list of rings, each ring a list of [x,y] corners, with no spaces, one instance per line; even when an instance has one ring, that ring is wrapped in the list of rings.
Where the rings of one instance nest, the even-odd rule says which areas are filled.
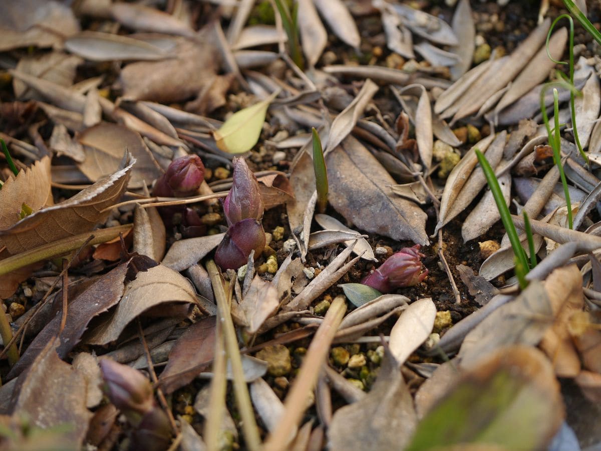
[[[0,267],[8,268],[0,294],[8,318],[27,318],[13,323],[22,329],[12,340],[0,327],[22,353],[0,366],[12,399],[3,403],[9,446],[38,440],[23,432],[22,414],[61,449],[137,440],[144,429],[118,422],[100,400],[97,360],[106,358],[156,382],[153,403],[173,418],[174,449],[213,446],[212,437],[249,449],[257,437],[266,449],[538,449],[570,432],[584,440],[578,423],[564,422],[570,398],[557,378],[598,402],[598,61],[579,50],[576,124],[591,165],[577,155],[572,129],[563,131],[570,197],[581,208],[569,230],[537,130],[542,83],[558,68],[544,42],[549,17],[534,28],[511,9],[532,13],[525,5],[307,0],[297,14],[308,67],[298,68],[278,14],[261,15],[267,2],[22,3],[0,19],[0,124],[19,168],[14,175],[3,163],[0,176]],[[522,34],[482,57],[486,20],[517,20]],[[488,30],[495,35],[495,25]],[[552,34],[552,57],[566,58],[566,41],[565,28]],[[566,106],[567,90],[559,96]],[[326,150],[326,215],[314,211],[310,126]],[[496,169],[512,212],[530,216],[540,261],[521,292],[475,149]],[[155,206],[175,199],[151,198],[148,188],[191,153],[210,183]],[[227,232],[227,201],[216,198],[231,186],[230,153],[257,173],[267,210],[264,250],[224,273],[217,296],[230,305],[237,336],[225,340],[242,353],[240,367],[220,354],[216,314],[224,311],[215,300],[224,299],[205,269]],[[521,216],[512,218],[523,229]],[[548,247],[538,251],[543,238]],[[111,239],[113,255],[102,260],[103,248],[92,247]],[[484,260],[475,240],[501,248]],[[426,254],[426,280],[392,295],[360,283],[413,243]],[[440,262],[448,274],[436,268],[437,251],[451,260]],[[464,283],[456,296],[453,276]],[[442,353],[457,350],[444,363]],[[224,422],[204,429],[213,385],[227,390],[227,380],[237,381],[236,398],[224,397]],[[246,405],[241,380],[250,384]],[[331,388],[348,405],[332,403]],[[252,433],[227,413],[248,420],[249,406]],[[520,419],[519,431],[507,433],[507,418]]]

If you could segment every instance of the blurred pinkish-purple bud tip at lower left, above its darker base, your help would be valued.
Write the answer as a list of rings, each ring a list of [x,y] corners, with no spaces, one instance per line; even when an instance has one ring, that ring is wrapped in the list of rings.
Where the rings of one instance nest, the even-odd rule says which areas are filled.
[[[134,426],[154,406],[150,381],[136,369],[113,360],[100,360],[104,390],[111,402]]]

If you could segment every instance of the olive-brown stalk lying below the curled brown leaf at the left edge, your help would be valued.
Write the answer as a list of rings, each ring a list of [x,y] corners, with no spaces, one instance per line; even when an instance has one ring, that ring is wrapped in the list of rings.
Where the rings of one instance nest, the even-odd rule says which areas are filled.
[[[29,249],[28,251],[0,260],[0,275],[8,274],[15,269],[22,268],[31,263],[75,251],[84,244],[94,245],[110,241],[113,238],[117,238],[119,233],[128,232],[132,227],[133,224],[125,224],[108,227],[107,229],[94,230],[94,232],[79,233],[78,235],[68,236],[67,238]],[[90,236],[93,236],[93,238],[90,239]]]

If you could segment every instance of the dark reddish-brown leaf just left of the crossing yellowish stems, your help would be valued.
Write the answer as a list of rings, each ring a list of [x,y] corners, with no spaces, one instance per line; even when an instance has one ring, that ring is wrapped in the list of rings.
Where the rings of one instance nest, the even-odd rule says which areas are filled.
[[[160,375],[160,385],[166,393],[188,384],[213,360],[215,318],[209,316],[192,324],[175,342],[167,366]]]

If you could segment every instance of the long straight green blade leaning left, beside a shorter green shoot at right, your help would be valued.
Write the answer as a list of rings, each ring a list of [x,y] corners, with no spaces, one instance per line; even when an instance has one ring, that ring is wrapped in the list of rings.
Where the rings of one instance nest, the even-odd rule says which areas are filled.
[[[495,198],[496,207],[499,210],[499,215],[501,215],[501,221],[503,222],[503,226],[505,227],[507,236],[511,242],[511,247],[513,248],[513,254],[516,260],[516,275],[520,288],[524,289],[528,285],[523,277],[525,274],[528,274],[528,257],[526,257],[526,251],[523,250],[519,235],[517,235],[516,226],[513,224],[513,221],[511,221],[511,213],[505,203],[505,198],[503,197],[501,186],[499,186],[499,180],[496,179],[495,171],[490,167],[488,160],[480,150],[476,149],[475,153],[484,172],[484,177],[486,177],[490,192],[492,192],[492,195]],[[517,263],[519,263],[519,265]]]

